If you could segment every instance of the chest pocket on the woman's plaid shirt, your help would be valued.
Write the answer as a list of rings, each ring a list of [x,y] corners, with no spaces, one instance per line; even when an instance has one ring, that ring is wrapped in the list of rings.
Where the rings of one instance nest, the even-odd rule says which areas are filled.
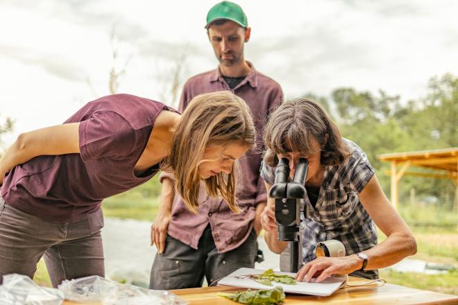
[[[337,188],[326,189],[325,202],[320,211],[321,222],[326,227],[350,227],[348,220],[355,211],[359,197],[349,184],[340,185]]]

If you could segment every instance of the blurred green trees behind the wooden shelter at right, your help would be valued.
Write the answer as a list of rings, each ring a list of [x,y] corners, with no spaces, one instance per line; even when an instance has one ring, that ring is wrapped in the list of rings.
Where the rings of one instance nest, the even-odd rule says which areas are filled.
[[[353,88],[332,91],[333,116],[343,137],[366,152],[385,191],[389,191],[389,176],[385,175],[389,164],[379,162],[377,155],[458,146],[458,77],[447,73],[431,78],[429,89],[427,96],[407,105],[400,103],[399,96],[382,90],[378,95]],[[400,197],[406,197],[412,187],[420,195],[435,195],[442,201],[453,198],[454,188],[448,180],[404,177]]]

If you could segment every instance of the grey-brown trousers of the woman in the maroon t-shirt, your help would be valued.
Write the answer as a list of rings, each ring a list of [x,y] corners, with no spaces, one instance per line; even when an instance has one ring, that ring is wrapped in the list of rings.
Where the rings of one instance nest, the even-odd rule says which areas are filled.
[[[33,278],[44,256],[53,287],[64,279],[105,276],[101,209],[76,223],[51,223],[0,198],[0,284],[3,275]]]

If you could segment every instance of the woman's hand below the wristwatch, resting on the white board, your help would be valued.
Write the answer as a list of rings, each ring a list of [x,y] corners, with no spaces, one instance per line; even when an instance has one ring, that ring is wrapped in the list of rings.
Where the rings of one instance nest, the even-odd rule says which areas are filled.
[[[313,261],[309,261],[303,268],[300,268],[296,275],[297,281],[310,282],[315,278],[319,283],[331,275],[348,275],[362,267],[362,261],[356,254],[343,257],[319,256]]]

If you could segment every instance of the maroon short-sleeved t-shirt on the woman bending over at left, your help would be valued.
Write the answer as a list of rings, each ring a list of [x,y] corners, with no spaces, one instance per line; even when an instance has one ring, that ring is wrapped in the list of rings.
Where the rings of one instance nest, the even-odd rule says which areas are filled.
[[[80,154],[40,156],[15,166],[1,187],[6,204],[44,220],[71,223],[101,201],[149,180],[133,170],[148,142],[162,103],[128,94],[87,103],[65,123],[80,122]],[[173,111],[173,110],[172,110]]]

